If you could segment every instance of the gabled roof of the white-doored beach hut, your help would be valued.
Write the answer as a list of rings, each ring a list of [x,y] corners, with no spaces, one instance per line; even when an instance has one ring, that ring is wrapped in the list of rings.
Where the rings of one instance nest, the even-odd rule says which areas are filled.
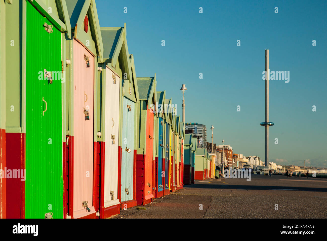
[[[111,67],[115,68],[119,54],[122,53],[120,57],[124,66],[120,66],[120,68],[122,69],[123,73],[127,73],[126,79],[132,83],[133,73],[131,64],[134,63],[134,58],[130,56],[128,52],[126,23],[124,23],[124,27],[101,27],[100,30],[104,49],[103,62],[111,63]],[[133,69],[135,72],[135,68]]]

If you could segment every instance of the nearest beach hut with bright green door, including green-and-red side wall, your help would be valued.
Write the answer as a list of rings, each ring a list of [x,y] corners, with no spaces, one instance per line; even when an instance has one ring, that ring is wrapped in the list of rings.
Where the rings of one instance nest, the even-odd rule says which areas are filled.
[[[8,43],[1,91],[10,103],[1,107],[6,110],[6,169],[20,176],[6,180],[6,217],[62,218],[63,43],[71,32],[66,2],[6,1],[1,9],[6,11],[1,37]]]

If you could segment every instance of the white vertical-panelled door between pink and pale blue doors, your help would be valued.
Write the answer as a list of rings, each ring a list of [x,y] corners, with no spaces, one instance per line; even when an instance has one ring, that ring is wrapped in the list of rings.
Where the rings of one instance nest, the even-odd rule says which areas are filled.
[[[113,77],[115,77],[115,81]],[[105,94],[105,207],[118,204],[118,143],[120,78],[106,67]],[[115,144],[111,136],[114,135]],[[113,198],[110,192],[113,191]]]

